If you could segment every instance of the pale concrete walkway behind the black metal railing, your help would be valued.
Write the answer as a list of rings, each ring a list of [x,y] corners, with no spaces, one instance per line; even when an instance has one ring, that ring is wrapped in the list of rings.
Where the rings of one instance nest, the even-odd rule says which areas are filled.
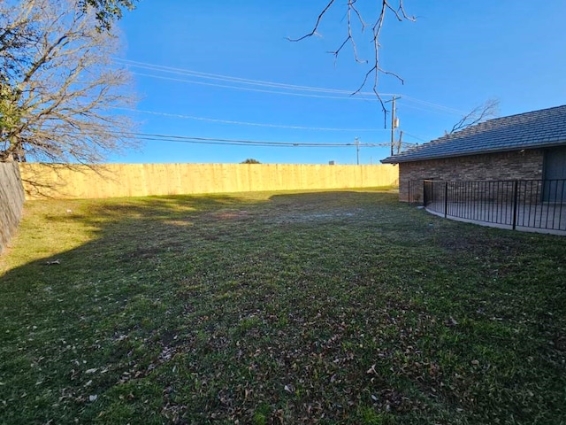
[[[445,217],[445,205],[442,201],[426,205],[425,209],[429,213]],[[493,228],[512,229],[513,205],[495,205],[487,202],[478,204],[449,202],[446,218]],[[516,230],[566,236],[566,205],[518,205]]]

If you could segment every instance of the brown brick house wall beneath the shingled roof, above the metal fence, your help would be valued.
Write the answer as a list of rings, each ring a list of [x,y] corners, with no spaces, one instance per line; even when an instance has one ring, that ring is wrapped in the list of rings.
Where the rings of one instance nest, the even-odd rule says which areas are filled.
[[[542,179],[544,152],[531,149],[403,162],[399,164],[399,200],[420,202],[423,199],[423,180]]]

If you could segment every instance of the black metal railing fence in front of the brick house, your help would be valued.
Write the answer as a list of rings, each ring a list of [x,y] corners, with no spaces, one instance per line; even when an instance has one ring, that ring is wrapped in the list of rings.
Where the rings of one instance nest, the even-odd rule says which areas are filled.
[[[566,180],[422,182],[427,210],[510,228],[566,231]]]

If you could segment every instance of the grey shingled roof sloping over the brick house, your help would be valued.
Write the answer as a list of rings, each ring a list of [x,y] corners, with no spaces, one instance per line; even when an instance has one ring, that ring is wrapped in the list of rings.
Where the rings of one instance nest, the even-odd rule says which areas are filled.
[[[547,148],[565,144],[566,104],[486,120],[408,151],[381,159],[381,162],[397,164],[480,153]]]

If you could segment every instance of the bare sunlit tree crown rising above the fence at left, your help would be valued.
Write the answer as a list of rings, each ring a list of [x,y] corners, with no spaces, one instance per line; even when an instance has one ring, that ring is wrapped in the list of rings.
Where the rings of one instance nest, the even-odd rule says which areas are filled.
[[[0,1],[0,161],[93,164],[130,144],[118,48],[76,1]]]

